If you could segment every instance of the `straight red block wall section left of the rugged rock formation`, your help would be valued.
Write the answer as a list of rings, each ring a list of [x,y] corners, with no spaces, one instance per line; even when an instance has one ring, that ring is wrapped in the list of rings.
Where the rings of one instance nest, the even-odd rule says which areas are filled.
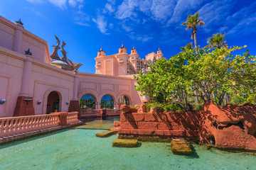
[[[122,112],[119,136],[198,139],[199,117],[198,112]]]

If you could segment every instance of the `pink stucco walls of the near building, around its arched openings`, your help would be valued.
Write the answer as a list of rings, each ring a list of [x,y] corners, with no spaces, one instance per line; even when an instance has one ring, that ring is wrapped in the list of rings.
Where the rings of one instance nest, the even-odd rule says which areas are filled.
[[[18,33],[22,33],[22,36],[14,38],[14,35],[17,35],[16,26],[16,23],[0,16],[0,100],[6,98],[6,103],[0,105],[0,117],[13,116],[18,96],[24,95],[33,98],[36,115],[45,114],[48,94],[51,91],[58,91],[60,94],[60,111],[63,112],[68,111],[66,103],[74,96],[80,100],[85,94],[95,96],[97,108],[99,108],[100,99],[106,94],[114,98],[116,108],[118,98],[122,95],[128,96],[132,104],[142,103],[142,98],[134,90],[136,81],[132,77],[79,73],[78,85],[74,86],[75,74],[73,72],[49,64],[47,42],[24,30],[21,26],[19,29],[23,30],[21,29],[22,32],[18,30]],[[5,40],[2,40],[2,37]],[[14,40],[20,41],[14,43]],[[19,47],[20,50],[17,50]],[[23,51],[28,50],[28,47],[33,53],[32,57],[23,55]],[[117,62],[113,57],[110,57],[112,64]],[[126,60],[124,62],[126,64]],[[116,73],[117,70],[113,69],[112,74]],[[76,94],[74,91],[77,91]],[[42,103],[38,105],[38,101]]]

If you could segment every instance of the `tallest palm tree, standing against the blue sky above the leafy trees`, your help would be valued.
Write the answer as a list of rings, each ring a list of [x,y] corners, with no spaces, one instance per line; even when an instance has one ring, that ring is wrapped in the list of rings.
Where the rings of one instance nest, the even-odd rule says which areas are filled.
[[[195,42],[195,48],[198,47],[197,45],[197,39],[196,39],[196,30],[197,26],[203,26],[205,23],[201,21],[202,17],[198,18],[199,11],[195,13],[195,15],[189,15],[187,18],[187,21],[185,23],[182,23],[183,26],[187,26],[186,30],[192,28],[192,35],[191,39]]]

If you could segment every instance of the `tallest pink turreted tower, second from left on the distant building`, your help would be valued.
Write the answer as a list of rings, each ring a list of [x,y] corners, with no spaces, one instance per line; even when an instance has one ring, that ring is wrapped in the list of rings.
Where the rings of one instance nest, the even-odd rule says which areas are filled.
[[[127,48],[124,47],[124,44],[122,43],[122,46],[118,49],[117,54],[117,62],[118,62],[118,68],[117,73],[119,76],[127,75],[127,62],[129,59],[129,55],[127,54]]]

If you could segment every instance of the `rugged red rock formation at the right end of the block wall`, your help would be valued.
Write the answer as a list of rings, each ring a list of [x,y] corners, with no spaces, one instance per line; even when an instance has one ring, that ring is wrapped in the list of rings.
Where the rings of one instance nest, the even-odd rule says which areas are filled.
[[[199,137],[218,147],[256,149],[256,106],[216,106],[213,101],[203,104]]]

